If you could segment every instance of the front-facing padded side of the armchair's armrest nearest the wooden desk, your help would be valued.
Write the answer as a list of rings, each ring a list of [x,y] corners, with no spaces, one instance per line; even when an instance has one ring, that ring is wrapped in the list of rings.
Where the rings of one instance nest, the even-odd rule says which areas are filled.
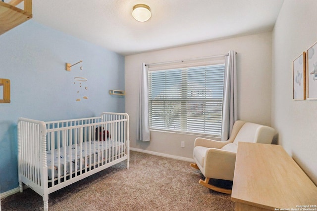
[[[203,174],[209,178],[233,181],[236,153],[221,149],[208,149]]]

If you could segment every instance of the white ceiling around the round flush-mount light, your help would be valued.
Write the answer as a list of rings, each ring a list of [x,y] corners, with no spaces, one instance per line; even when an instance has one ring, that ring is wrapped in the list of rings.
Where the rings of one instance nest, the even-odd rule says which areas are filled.
[[[122,55],[267,32],[284,0],[33,0],[33,20]],[[147,22],[132,7],[151,7]]]

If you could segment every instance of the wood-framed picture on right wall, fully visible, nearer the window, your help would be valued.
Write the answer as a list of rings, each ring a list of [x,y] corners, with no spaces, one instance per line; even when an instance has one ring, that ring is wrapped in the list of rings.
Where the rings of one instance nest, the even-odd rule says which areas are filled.
[[[293,99],[306,99],[306,52],[293,61]]]

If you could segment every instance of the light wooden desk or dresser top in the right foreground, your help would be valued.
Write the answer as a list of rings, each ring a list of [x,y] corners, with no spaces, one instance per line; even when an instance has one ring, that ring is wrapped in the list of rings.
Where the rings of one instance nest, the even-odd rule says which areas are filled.
[[[236,211],[317,210],[317,187],[281,146],[239,142],[231,199]]]

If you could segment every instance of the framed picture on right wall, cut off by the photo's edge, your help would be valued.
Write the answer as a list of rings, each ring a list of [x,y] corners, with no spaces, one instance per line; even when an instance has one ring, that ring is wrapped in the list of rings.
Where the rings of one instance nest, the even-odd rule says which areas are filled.
[[[307,50],[307,98],[317,100],[317,42]]]

